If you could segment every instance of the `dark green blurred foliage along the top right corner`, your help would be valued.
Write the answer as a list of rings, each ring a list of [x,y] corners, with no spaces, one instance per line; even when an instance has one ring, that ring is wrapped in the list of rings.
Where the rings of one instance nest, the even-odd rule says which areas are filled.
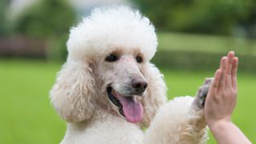
[[[256,38],[255,0],[134,0],[158,30]]]

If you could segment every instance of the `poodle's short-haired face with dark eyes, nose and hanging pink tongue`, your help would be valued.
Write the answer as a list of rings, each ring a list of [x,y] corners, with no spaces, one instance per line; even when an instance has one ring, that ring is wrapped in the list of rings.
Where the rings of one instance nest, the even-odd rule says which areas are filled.
[[[136,49],[126,51],[117,48],[96,62],[96,82],[100,83],[100,91],[105,95],[107,105],[128,122],[140,122],[143,106],[139,101],[148,86],[142,74],[142,67],[146,63],[143,54]]]

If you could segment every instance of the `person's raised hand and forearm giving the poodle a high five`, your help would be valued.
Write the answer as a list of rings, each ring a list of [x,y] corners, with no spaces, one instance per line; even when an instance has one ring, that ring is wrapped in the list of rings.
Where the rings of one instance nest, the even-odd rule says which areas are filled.
[[[204,114],[206,124],[218,144],[247,144],[248,138],[231,121],[237,101],[238,58],[230,51],[222,57],[220,67],[214,74],[214,81],[206,96]]]

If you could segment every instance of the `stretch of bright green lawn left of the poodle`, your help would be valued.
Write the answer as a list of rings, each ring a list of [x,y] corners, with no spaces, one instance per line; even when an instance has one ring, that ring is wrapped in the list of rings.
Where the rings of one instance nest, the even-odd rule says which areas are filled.
[[[48,91],[60,65],[0,60],[0,143],[58,143],[65,122],[50,106]]]

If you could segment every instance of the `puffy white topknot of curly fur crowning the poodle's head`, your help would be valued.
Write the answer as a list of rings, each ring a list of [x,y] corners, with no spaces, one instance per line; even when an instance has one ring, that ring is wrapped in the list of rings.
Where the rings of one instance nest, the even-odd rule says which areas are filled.
[[[70,30],[68,59],[82,59],[108,54],[117,46],[140,47],[146,59],[153,58],[158,45],[154,26],[139,11],[126,6],[95,8]]]

